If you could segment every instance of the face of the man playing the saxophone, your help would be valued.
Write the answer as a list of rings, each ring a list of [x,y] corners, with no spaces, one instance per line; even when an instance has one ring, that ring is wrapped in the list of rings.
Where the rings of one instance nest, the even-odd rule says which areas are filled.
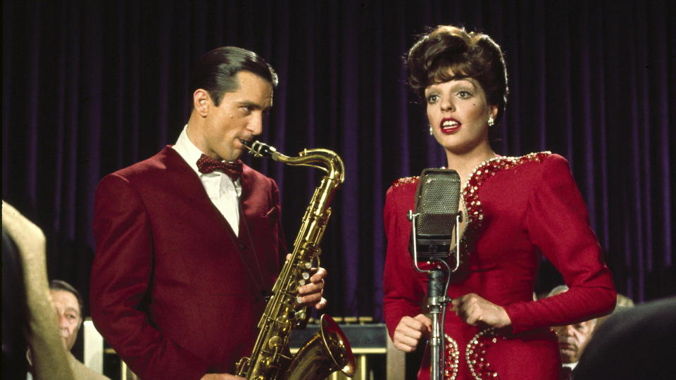
[[[226,92],[217,106],[206,99],[204,128],[189,134],[192,142],[211,158],[237,160],[244,152],[242,140],[252,141],[263,132],[263,117],[273,105],[273,86],[249,71],[237,73],[239,88]]]

